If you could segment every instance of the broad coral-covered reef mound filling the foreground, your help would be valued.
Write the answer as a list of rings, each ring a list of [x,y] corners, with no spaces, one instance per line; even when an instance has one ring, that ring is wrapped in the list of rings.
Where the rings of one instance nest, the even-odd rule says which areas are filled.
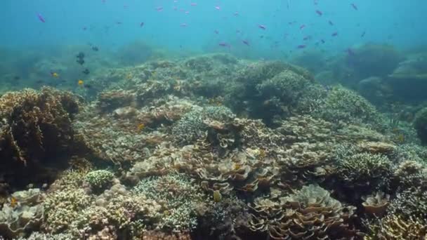
[[[70,155],[86,154],[74,156],[47,189],[1,199],[0,234],[21,240],[426,237],[427,149],[415,138],[395,140],[383,114],[355,91],[324,88],[287,63],[224,54],[147,62],[114,74],[121,80],[82,105],[67,105],[68,93],[51,89],[20,92],[34,94],[34,104],[41,96],[58,100],[47,101],[49,107],[22,101],[30,106],[22,111],[22,103],[15,110],[5,101],[4,116],[16,111],[9,117],[26,119],[38,109],[55,116],[22,126],[64,129],[60,137],[46,136]],[[204,95],[212,86],[214,94]],[[72,147],[79,142],[84,147]],[[44,164],[37,146],[22,150],[22,158]]]

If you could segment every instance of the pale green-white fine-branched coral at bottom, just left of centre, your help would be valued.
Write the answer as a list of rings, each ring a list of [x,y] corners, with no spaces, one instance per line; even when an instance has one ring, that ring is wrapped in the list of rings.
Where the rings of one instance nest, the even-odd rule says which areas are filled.
[[[133,189],[147,199],[164,202],[158,227],[173,231],[188,231],[197,227],[197,204],[205,199],[201,190],[186,175],[172,173],[162,177],[145,178]]]

